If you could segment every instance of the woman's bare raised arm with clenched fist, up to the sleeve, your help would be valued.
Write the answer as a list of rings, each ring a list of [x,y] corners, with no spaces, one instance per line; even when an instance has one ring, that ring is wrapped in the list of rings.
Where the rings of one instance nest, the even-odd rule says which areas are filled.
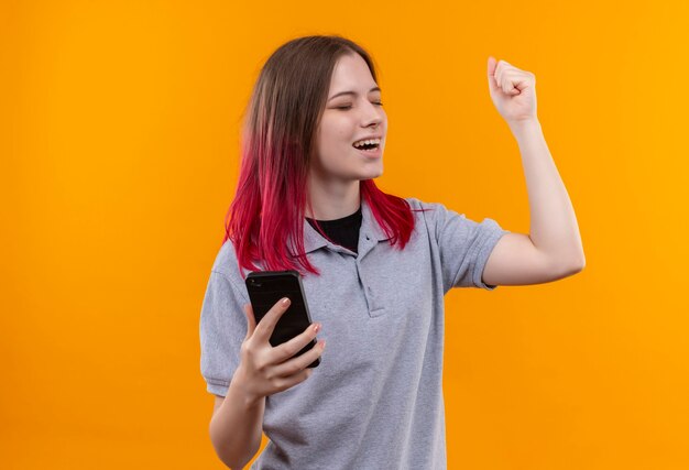
[[[524,285],[556,281],[583,270],[586,256],[575,209],[536,117],[536,77],[489,57],[491,98],[522,154],[531,210],[529,234],[506,233],[488,259],[483,281]]]

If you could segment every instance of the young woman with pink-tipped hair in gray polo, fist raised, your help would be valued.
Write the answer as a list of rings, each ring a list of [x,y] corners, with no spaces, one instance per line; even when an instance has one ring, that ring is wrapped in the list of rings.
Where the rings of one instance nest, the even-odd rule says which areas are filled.
[[[375,186],[387,117],[356,43],[299,37],[267,59],[200,317],[201,373],[216,395],[210,437],[226,464],[242,468],[264,431],[252,469],[446,468],[444,295],[583,267],[571,205],[537,133],[534,81],[489,59],[491,97],[523,152],[537,239]],[[302,273],[314,321],[277,347],[269,338],[288,304],[256,325],[244,284],[263,270]]]

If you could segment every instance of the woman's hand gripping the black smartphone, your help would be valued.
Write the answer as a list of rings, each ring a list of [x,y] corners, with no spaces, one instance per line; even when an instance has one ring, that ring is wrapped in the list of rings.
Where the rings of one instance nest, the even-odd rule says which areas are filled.
[[[302,334],[278,346],[270,343],[275,325],[288,307],[289,303],[278,300],[256,325],[251,304],[244,305],[249,328],[232,381],[239,381],[240,387],[252,402],[304,382],[313,373],[308,365],[320,358],[326,347],[325,341],[318,341],[307,352],[294,357],[314,341],[318,334],[316,327],[320,326],[318,324],[309,325]]]

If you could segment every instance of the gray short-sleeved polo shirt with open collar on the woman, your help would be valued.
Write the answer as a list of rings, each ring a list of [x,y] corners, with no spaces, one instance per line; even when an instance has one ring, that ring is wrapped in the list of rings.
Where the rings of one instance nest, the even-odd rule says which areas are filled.
[[[493,219],[479,223],[440,204],[407,201],[430,210],[413,212],[403,251],[390,245],[365,200],[358,254],[304,221],[305,250],[320,271],[303,277],[304,291],[327,346],[309,379],[266,397],[270,442],[252,469],[447,467],[444,296],[451,287],[494,289],[481,274],[508,231]],[[226,395],[239,364],[248,303],[227,241],[200,315],[201,375],[212,394]]]

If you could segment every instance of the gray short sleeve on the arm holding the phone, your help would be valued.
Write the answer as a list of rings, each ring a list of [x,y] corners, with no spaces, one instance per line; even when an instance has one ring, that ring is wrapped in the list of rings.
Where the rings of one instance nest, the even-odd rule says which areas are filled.
[[[226,396],[241,359],[247,316],[241,293],[218,271],[211,271],[200,316],[201,375],[207,391]]]

